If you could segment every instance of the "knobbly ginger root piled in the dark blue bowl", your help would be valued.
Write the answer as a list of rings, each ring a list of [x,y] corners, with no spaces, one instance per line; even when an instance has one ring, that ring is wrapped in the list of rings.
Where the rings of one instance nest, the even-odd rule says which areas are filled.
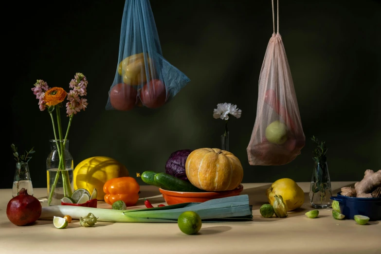
[[[371,169],[365,170],[362,181],[355,183],[355,188],[341,188],[341,195],[357,198],[373,198],[372,192],[381,186],[381,170],[374,172]]]

